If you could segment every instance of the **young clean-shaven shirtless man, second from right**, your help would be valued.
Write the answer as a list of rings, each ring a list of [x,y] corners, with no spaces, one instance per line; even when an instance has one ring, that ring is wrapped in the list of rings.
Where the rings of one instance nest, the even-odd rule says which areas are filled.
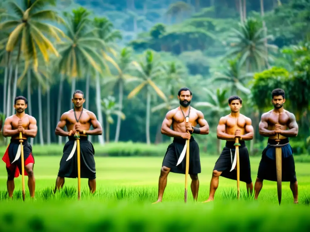
[[[236,148],[234,146],[236,138],[239,138],[239,143],[241,144],[239,146],[240,181],[246,183],[248,194],[249,190],[250,193],[253,191],[250,158],[245,144],[245,140],[253,139],[254,129],[252,127],[252,121],[250,118],[240,114],[240,108],[242,107],[240,97],[230,97],[228,99],[228,105],[230,106],[231,113],[221,117],[217,126],[217,138],[226,140],[226,145],[215,163],[210,182],[209,198],[204,203],[214,200],[215,191],[219,186],[219,176],[237,180],[236,166],[232,167],[233,160],[236,157]],[[233,170],[230,171],[232,168]]]

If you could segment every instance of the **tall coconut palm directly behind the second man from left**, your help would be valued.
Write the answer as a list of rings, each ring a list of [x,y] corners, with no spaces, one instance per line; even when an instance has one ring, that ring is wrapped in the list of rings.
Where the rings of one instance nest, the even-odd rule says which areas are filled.
[[[104,59],[98,52],[98,48],[105,45],[105,42],[94,36],[96,28],[89,19],[91,12],[80,7],[72,13],[64,12],[65,18],[65,40],[58,43],[61,58],[58,61],[58,68],[61,74],[59,84],[59,103],[57,120],[60,118],[61,92],[63,81],[67,75],[71,79],[71,93],[76,86],[76,78],[82,77],[85,67],[94,68],[101,72],[104,66]],[[70,102],[70,104],[72,104]],[[61,144],[62,137],[59,136],[58,143]],[[103,139],[100,140],[103,143]]]

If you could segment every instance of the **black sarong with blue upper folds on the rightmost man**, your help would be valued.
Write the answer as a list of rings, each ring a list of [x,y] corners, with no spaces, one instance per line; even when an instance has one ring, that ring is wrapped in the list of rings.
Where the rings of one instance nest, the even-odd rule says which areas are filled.
[[[281,140],[279,144],[287,144],[289,139]],[[275,148],[272,144],[277,144],[275,140],[268,139],[268,145],[262,152],[262,158],[259,163],[257,178],[262,180],[277,181]],[[290,149],[287,149],[289,146]],[[290,144],[284,145],[282,148],[282,181],[295,182],[297,181],[295,172],[295,162],[293,157],[293,148]],[[272,153],[270,153],[270,151]],[[267,156],[268,153],[268,156]],[[272,155],[272,156],[271,156]]]

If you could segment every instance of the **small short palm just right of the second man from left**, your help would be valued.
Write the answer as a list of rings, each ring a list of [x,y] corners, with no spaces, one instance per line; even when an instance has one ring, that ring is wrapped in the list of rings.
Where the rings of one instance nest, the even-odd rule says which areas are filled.
[[[105,131],[106,131],[106,142],[110,141],[110,124],[113,124],[114,120],[112,115],[117,115],[121,119],[125,119],[125,114],[119,110],[119,105],[115,102],[115,97],[108,96],[101,101],[102,111],[105,115]]]

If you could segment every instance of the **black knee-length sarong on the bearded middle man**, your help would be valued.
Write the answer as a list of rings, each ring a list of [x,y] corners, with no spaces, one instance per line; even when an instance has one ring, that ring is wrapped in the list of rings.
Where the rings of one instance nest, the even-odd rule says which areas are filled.
[[[178,163],[179,157],[182,153],[186,139],[174,138],[173,142],[169,144],[165,157],[162,161],[162,166],[170,168],[170,172],[185,174],[186,169],[186,154],[182,162],[176,166]],[[199,156],[199,146],[198,143],[194,140],[193,135],[189,140],[189,174],[198,174],[201,173],[200,166],[200,156]]]

